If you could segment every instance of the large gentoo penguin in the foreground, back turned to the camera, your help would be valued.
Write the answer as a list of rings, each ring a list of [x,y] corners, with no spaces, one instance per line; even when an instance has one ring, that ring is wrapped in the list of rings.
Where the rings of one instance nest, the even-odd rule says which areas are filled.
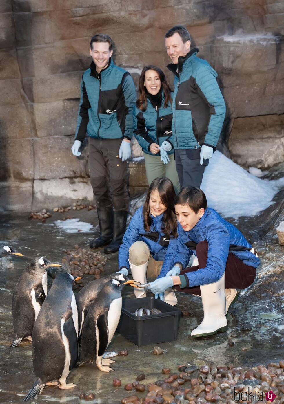
[[[78,279],[81,278],[75,280]],[[58,385],[60,389],[75,387],[73,383],[66,384],[66,378],[78,359],[78,312],[73,281],[71,274],[56,276],[42,304],[31,343],[37,379],[23,401],[40,394],[45,385]]]

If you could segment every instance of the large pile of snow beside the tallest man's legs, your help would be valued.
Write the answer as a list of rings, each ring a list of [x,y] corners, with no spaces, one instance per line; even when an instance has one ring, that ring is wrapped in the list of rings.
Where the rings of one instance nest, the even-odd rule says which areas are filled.
[[[208,206],[224,217],[254,216],[268,208],[282,181],[255,177],[219,151],[205,168],[201,189]]]

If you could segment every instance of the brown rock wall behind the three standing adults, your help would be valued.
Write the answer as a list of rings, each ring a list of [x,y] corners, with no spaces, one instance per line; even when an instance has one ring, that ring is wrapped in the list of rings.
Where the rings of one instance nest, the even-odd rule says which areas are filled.
[[[164,34],[175,24],[188,28],[199,56],[219,74],[227,104],[219,149],[244,166],[283,160],[283,2],[2,0],[2,210],[92,200],[87,149],[81,158],[70,150],[90,37],[111,35],[115,63],[136,83],[146,64],[163,68],[172,80]],[[141,155],[135,141],[132,151]],[[129,162],[129,185],[132,193],[145,189],[143,162]]]

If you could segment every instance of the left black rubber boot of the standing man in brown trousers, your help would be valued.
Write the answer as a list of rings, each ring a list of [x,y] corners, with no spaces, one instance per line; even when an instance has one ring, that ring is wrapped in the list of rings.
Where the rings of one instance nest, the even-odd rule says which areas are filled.
[[[90,242],[90,248],[103,247],[113,239],[113,210],[112,208],[97,209],[100,236]]]

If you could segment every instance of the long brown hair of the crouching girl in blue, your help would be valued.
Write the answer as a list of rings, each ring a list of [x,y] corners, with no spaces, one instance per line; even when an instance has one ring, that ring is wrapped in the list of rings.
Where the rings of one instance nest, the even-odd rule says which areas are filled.
[[[163,225],[161,229],[168,236],[171,235],[176,238],[178,237],[178,222],[175,216],[175,207],[173,204],[173,200],[175,198],[175,189],[171,180],[168,178],[158,177],[150,184],[143,206],[144,229],[145,231],[150,231],[150,226],[152,224],[149,200],[151,192],[155,190],[159,192],[162,204],[167,207],[167,210],[165,210],[163,215]]]

